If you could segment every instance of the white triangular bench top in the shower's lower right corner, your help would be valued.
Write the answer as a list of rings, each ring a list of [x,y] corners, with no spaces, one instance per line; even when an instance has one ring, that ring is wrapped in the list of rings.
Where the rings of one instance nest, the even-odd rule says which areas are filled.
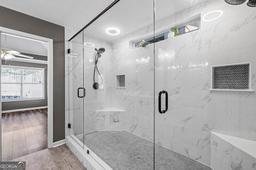
[[[230,145],[242,150],[243,152],[249,154],[250,156],[256,158],[256,141],[251,141],[248,139],[243,139],[239,137],[233,137],[229,135],[224,135],[216,132],[211,132],[211,135],[215,135],[220,139],[226,141]]]

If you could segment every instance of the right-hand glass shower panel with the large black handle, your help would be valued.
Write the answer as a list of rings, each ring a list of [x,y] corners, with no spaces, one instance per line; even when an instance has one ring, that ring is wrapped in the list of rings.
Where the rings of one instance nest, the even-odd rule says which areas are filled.
[[[226,2],[156,1],[155,169],[254,167],[255,8]]]

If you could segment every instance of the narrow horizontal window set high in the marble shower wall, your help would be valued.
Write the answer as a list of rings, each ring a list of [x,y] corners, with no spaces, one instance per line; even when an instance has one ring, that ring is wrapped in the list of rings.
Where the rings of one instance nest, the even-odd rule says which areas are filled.
[[[196,16],[192,16],[191,18],[186,19],[185,21],[183,21],[179,24],[172,25],[172,26],[168,27],[168,29],[166,28],[166,29],[163,29],[160,31],[156,31],[155,41],[159,42],[159,41],[168,39],[168,34],[170,31],[170,28],[172,28],[172,27],[178,28],[178,35],[175,35],[175,37],[185,34],[185,33],[190,33],[192,31],[196,31],[196,30],[200,29],[200,22],[201,22],[200,16],[196,15]],[[150,37],[150,38],[146,37],[145,39],[140,39],[140,41],[135,41],[134,49],[140,47],[140,43],[142,43],[143,40],[148,43],[154,43],[154,37]]]

